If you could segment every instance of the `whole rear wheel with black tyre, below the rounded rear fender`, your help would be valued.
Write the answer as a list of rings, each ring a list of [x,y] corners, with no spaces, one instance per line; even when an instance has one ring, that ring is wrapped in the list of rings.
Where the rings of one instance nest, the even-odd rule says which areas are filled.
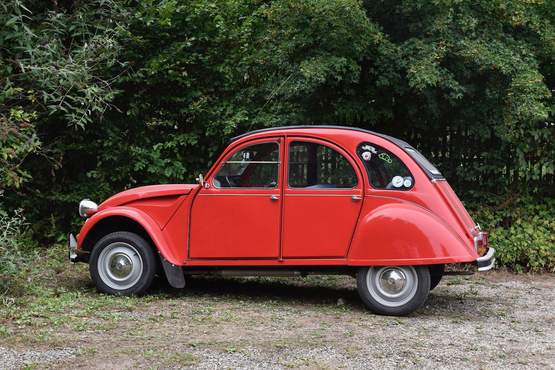
[[[427,266],[360,267],[356,284],[371,311],[405,316],[420,307],[430,293],[430,271]]]

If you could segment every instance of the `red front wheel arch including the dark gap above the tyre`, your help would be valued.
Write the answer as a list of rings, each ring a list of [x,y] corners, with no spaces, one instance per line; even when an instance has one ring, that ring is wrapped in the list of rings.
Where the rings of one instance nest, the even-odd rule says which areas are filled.
[[[78,240],[78,249],[92,251],[102,237],[116,231],[129,231],[145,239],[149,245],[160,252],[171,263],[181,266],[176,260],[157,223],[145,212],[127,207],[112,207],[98,212],[85,222]]]

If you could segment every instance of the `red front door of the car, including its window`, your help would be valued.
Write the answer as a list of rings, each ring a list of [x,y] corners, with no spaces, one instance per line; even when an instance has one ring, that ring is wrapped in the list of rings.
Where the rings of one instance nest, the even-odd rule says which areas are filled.
[[[278,259],[282,138],[234,151],[193,200],[190,259]]]

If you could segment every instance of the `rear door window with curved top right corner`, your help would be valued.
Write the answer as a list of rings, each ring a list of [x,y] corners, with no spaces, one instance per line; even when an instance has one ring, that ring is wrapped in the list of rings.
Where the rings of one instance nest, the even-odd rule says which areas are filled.
[[[352,189],[358,184],[355,169],[339,151],[310,141],[289,145],[289,187]]]

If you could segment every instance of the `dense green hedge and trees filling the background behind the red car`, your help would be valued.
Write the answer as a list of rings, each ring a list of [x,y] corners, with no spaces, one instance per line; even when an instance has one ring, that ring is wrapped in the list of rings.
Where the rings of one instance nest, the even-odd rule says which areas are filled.
[[[334,124],[415,145],[500,262],[553,266],[553,2],[0,6],[0,186],[37,236],[78,227],[84,197],[193,181],[230,136]]]

